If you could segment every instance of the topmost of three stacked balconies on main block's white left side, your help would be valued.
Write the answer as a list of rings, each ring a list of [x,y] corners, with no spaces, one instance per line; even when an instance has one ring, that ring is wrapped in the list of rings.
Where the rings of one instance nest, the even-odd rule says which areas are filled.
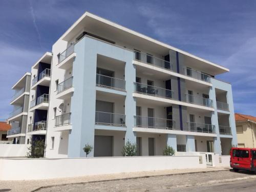
[[[71,68],[75,57],[74,45],[71,45],[59,55],[57,67],[64,70]]]

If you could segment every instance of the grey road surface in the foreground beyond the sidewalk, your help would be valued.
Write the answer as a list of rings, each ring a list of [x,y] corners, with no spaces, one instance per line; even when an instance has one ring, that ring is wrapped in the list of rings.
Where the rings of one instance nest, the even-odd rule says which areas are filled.
[[[256,175],[225,170],[56,185],[37,191],[256,191]]]

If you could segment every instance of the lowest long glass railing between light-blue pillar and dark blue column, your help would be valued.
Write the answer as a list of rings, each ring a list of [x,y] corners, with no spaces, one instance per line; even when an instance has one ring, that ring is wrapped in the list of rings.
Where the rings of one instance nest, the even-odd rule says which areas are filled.
[[[175,120],[162,119],[162,118],[156,118],[156,117],[134,116],[134,125],[136,127],[174,130]]]

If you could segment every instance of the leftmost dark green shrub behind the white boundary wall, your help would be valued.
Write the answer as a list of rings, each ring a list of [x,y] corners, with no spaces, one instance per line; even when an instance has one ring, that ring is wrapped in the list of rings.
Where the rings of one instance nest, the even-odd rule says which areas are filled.
[[[28,158],[41,158],[45,154],[45,140],[44,139],[35,139],[30,142],[30,147],[28,147],[29,152],[27,153]]]

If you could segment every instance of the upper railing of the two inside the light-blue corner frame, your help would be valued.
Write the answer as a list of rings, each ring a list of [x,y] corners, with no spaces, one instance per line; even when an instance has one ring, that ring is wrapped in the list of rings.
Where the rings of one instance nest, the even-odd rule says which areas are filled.
[[[117,90],[125,90],[125,80],[96,74],[96,85]]]

